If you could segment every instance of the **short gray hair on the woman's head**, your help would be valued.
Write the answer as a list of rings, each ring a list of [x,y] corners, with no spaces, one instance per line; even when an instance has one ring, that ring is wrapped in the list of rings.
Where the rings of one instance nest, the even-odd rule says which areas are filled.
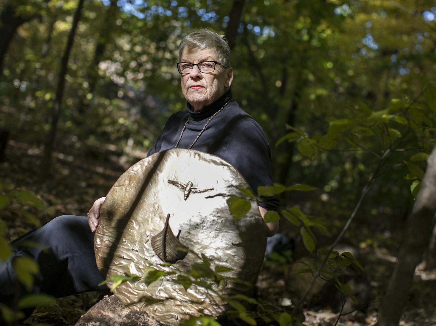
[[[218,61],[227,67],[231,66],[230,47],[228,46],[225,35],[219,35],[211,32],[207,28],[196,30],[183,38],[179,45],[179,61],[182,59],[184,48],[200,48],[213,47],[218,56]]]

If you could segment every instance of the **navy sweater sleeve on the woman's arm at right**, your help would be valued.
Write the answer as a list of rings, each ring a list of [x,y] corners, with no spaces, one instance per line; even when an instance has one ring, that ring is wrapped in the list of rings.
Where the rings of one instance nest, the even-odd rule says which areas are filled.
[[[223,158],[238,169],[256,195],[257,187],[273,185],[269,144],[262,128],[252,118],[239,121],[232,129]],[[262,197],[259,206],[277,210],[280,202],[278,198]]]

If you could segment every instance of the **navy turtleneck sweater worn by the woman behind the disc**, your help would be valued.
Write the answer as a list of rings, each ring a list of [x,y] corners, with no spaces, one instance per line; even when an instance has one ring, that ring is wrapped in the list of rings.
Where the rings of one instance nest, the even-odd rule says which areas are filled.
[[[194,112],[191,104],[187,103],[187,110],[170,116],[162,134],[147,156],[174,148],[187,118],[190,118],[189,123],[178,147],[189,148],[208,119],[231,98],[232,91],[228,90],[200,112]],[[255,192],[259,185],[273,184],[271,153],[265,133],[236,101],[231,101],[212,119],[192,148],[228,161],[242,174]],[[275,198],[262,199],[259,206],[263,208],[277,209],[279,206],[279,201]]]

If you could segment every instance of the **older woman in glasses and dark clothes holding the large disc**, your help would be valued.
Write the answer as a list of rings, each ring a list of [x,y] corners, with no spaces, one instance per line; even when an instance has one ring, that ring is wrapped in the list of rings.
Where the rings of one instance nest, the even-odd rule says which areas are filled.
[[[230,48],[224,37],[207,29],[187,35],[180,44],[177,69],[187,110],[173,114],[148,155],[169,148],[194,148],[217,155],[231,163],[256,190],[272,185],[269,145],[262,128],[232,101],[230,86],[233,70]],[[14,256],[28,256],[40,266],[34,292],[62,297],[103,289],[94,256],[93,238],[104,197],[95,201],[88,219],[64,215],[16,240]],[[278,206],[269,198],[259,203],[264,216]],[[266,223],[266,234],[273,235],[278,222]],[[90,230],[91,229],[91,232]],[[39,242],[50,250],[27,247],[24,241]],[[11,262],[0,265],[1,301],[10,303],[24,288],[17,282]]]

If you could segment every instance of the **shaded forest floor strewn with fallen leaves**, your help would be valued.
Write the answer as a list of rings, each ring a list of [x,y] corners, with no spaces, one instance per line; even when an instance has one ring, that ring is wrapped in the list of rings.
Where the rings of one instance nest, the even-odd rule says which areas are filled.
[[[76,155],[71,148],[66,152],[73,154],[55,153],[52,176],[41,182],[40,148],[9,141],[6,161],[0,162],[0,192],[8,192],[11,189],[32,191],[45,205],[43,209],[38,209],[31,204],[22,205],[12,201],[1,211],[1,219],[6,223],[7,240],[13,240],[34,229],[35,225],[38,225],[38,220],[41,221],[40,224],[44,224],[58,215],[85,215],[94,200],[104,196],[123,171],[146,156],[145,152],[136,152],[134,155],[119,152],[115,146],[94,145],[87,148],[86,151],[82,150],[80,155]],[[361,303],[372,303],[369,303],[366,309],[352,313],[344,310],[343,313],[348,314],[341,316],[337,322],[341,298],[322,295],[326,289],[327,292],[330,291],[325,285],[328,282],[324,282],[324,285],[318,285],[319,291],[303,303],[305,325],[333,326],[337,322],[337,325],[360,326],[375,323],[380,300],[392,275],[396,252],[392,248],[388,250],[375,246],[356,246],[359,251],[357,259],[366,271],[364,284],[369,284],[372,292],[372,295],[366,297],[366,302]],[[259,299],[281,306],[285,311],[291,311],[304,287],[310,282],[310,278],[305,277],[310,274],[300,274],[301,278],[296,279],[291,274],[291,269],[292,266],[288,264],[266,261],[259,276]],[[358,292],[364,292],[368,290],[368,286],[363,290],[359,286],[356,289]],[[58,299],[48,307],[37,308],[34,314],[20,325],[74,325],[95,303],[98,296],[97,292],[90,292]],[[436,325],[434,302],[436,271],[424,272],[419,266],[400,325]]]

